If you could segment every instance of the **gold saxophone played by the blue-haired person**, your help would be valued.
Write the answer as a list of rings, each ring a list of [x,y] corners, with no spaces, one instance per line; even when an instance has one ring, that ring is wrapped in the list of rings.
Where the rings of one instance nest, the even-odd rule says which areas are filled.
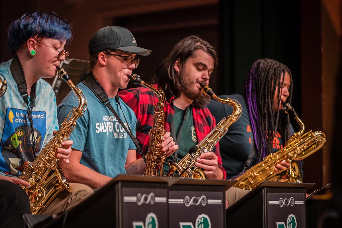
[[[30,183],[30,187],[21,185],[30,199],[30,210],[32,214],[40,214],[63,190],[70,192],[69,183],[58,168],[59,159],[55,157],[56,151],[61,143],[68,140],[74,130],[76,120],[83,115],[87,109],[87,100],[82,91],[76,88],[69,79],[64,69],[57,67],[58,76],[68,83],[71,90],[76,94],[79,105],[70,111],[64,119],[61,128],[50,139],[45,148],[39,153],[33,163],[29,163],[18,177]]]

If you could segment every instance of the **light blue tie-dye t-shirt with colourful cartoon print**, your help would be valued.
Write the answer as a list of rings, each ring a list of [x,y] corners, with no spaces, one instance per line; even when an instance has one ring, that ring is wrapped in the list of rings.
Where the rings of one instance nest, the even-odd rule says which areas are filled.
[[[7,91],[0,97],[0,175],[18,176],[27,162],[34,160],[32,141],[36,142],[38,155],[53,137],[53,131],[58,130],[58,122],[55,94],[48,82],[39,79],[32,109],[32,137],[27,105],[11,74],[11,62],[0,64],[0,75],[7,83]]]

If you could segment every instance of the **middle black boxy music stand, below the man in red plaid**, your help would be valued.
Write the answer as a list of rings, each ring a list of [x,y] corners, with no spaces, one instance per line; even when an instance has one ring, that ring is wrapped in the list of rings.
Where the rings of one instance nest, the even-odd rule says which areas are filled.
[[[170,228],[225,227],[225,190],[236,180],[169,179],[176,179],[169,187]]]

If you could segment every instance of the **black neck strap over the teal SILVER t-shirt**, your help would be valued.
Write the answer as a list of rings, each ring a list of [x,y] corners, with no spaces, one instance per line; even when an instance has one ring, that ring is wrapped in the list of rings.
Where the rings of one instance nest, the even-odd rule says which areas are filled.
[[[119,96],[118,94],[116,94],[115,98],[116,98],[116,102],[118,102],[120,109],[122,111],[122,115],[125,118],[125,121],[127,123],[127,127],[123,124],[121,118],[119,117],[119,115],[116,113],[116,111],[114,110],[114,108],[111,106],[110,101],[108,99],[108,95],[107,93],[104,91],[104,89],[102,88],[102,86],[100,85],[100,83],[98,83],[98,81],[96,80],[96,78],[94,77],[94,75],[92,74],[92,72],[89,73],[88,77],[86,78],[86,80],[82,81],[83,84],[85,84],[97,97],[98,100],[100,100],[100,102],[102,104],[105,104],[108,109],[113,113],[113,115],[115,116],[115,118],[119,121],[119,123],[121,124],[122,128],[127,132],[127,134],[130,136],[130,138],[133,140],[133,143],[137,149],[137,151],[139,152],[139,154],[143,157],[145,163],[146,163],[146,158],[144,156],[143,150],[141,149],[138,140],[136,139],[135,135],[133,135],[131,128],[129,126],[129,124],[127,123],[127,119],[126,116],[124,115],[120,102],[119,102]]]

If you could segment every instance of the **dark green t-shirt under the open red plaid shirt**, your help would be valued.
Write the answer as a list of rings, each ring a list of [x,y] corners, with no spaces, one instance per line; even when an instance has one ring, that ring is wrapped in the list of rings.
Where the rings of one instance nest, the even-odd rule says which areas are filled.
[[[179,146],[178,155],[177,155],[178,162],[182,158],[184,158],[184,156],[188,154],[190,147],[197,145],[197,136],[196,136],[195,126],[194,126],[194,119],[193,119],[191,106],[189,107],[186,113],[186,117],[183,122],[182,132],[180,132],[184,115],[185,115],[185,110],[174,106],[173,124],[174,124],[175,133],[172,131],[172,128],[170,131],[171,131],[172,137],[176,136],[174,137],[174,141],[175,142],[178,141],[177,143],[177,145]],[[173,157],[174,157],[173,154],[169,156],[167,158],[167,162],[173,161]],[[167,162],[164,163],[163,165],[164,174],[166,174],[167,171],[169,170],[169,164]]]

